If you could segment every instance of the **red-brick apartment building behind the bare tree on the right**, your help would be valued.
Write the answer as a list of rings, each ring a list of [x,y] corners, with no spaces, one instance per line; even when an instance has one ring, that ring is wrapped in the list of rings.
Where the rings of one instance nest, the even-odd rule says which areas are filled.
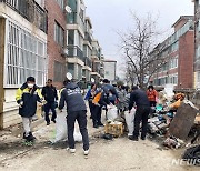
[[[193,88],[193,17],[181,16],[172,27],[174,33],[161,43],[166,48],[159,52],[168,62],[153,74],[151,81],[160,87]]]

